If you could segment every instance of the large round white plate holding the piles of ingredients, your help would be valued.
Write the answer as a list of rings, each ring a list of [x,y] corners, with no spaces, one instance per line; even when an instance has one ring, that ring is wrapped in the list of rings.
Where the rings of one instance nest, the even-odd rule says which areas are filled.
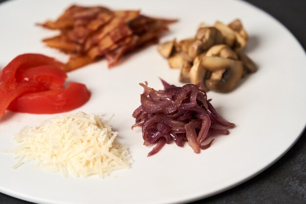
[[[85,1],[73,0],[85,4]],[[54,32],[35,23],[58,17],[72,0],[12,0],[0,5],[0,67],[21,53],[37,52],[66,60],[67,56],[47,48],[41,39]],[[99,4],[99,0],[86,4]],[[146,157],[151,148],[142,145],[141,130],[131,131],[133,110],[140,104],[142,88],[161,89],[158,77],[178,83],[178,70],[168,68],[156,46],[133,54],[120,66],[108,69],[105,60],[69,73],[70,81],[87,84],[90,101],[77,111],[105,113],[115,117],[113,128],[120,142],[130,146],[131,169],[99,179],[65,179],[22,165],[12,170],[13,155],[0,154],[0,191],[42,204],[170,204],[208,197],[260,173],[298,139],[306,124],[306,56],[295,38],[273,18],[253,6],[232,0],[111,1],[113,9],[141,9],[143,13],[179,18],[162,40],[193,36],[201,22],[229,23],[240,18],[250,35],[246,53],[258,64],[257,73],[247,77],[230,94],[209,92],[213,105],[237,124],[229,136],[218,136],[211,148],[194,154],[188,145],[166,145],[157,155]],[[0,119],[0,149],[12,149],[13,135],[25,125],[53,115],[7,112]]]

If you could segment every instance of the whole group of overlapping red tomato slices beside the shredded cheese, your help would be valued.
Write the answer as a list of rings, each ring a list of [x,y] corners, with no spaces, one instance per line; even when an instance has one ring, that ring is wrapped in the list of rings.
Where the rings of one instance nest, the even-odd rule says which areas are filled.
[[[63,84],[67,78],[54,58],[23,54],[0,72],[0,116],[6,109],[23,113],[62,113],[84,105],[90,92],[84,84]]]

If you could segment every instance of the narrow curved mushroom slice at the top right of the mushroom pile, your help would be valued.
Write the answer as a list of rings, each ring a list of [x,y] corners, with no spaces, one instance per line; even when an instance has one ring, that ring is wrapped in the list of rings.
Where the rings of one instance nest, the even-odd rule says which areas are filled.
[[[233,21],[232,23],[228,24],[228,27],[230,27],[235,32],[236,43],[234,45],[234,49],[235,51],[239,52],[245,47],[248,40],[248,35],[240,20]]]

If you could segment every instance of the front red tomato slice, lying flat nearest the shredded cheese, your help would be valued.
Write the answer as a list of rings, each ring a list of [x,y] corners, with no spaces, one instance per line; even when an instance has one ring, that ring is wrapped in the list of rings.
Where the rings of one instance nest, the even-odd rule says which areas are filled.
[[[50,114],[71,111],[84,105],[90,92],[84,84],[70,82],[67,88],[23,94],[8,107],[22,113]]]

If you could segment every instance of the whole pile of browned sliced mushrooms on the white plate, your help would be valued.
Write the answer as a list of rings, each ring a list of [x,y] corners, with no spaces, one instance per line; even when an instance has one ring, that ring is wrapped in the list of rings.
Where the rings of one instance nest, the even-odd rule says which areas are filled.
[[[217,21],[213,26],[201,23],[195,37],[162,43],[158,51],[171,68],[180,69],[180,82],[203,82],[207,90],[229,92],[245,74],[257,70],[242,53],[247,40],[240,20],[228,25]]]

